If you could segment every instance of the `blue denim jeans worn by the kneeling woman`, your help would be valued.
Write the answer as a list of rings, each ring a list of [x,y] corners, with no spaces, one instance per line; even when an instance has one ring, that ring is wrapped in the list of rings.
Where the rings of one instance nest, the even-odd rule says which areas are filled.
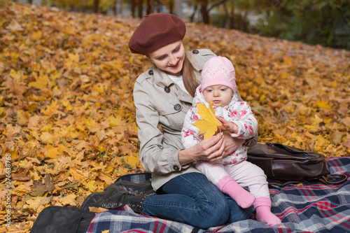
[[[241,209],[200,173],[176,176],[160,191],[165,194],[151,195],[144,200],[146,214],[202,229],[247,219],[253,210]]]

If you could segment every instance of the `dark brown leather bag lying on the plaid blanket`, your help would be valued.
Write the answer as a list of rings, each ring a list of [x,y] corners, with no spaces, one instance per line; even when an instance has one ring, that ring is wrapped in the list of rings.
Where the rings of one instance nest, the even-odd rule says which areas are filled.
[[[290,183],[337,184],[346,181],[343,174],[330,174],[324,155],[281,143],[251,146],[247,161],[265,171],[270,185],[282,187]]]

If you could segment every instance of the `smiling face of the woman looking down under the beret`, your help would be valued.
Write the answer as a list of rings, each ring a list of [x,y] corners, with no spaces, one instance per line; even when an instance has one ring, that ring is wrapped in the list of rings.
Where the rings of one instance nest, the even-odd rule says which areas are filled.
[[[165,73],[181,76],[185,59],[185,48],[183,48],[182,41],[176,41],[151,52],[147,57]]]

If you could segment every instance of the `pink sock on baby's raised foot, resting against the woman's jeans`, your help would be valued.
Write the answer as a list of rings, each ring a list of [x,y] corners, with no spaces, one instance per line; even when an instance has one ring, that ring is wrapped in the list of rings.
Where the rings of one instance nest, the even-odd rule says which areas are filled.
[[[241,188],[241,186],[231,177],[225,176],[216,185],[221,192],[234,199],[241,208],[248,208],[255,200],[254,195]]]

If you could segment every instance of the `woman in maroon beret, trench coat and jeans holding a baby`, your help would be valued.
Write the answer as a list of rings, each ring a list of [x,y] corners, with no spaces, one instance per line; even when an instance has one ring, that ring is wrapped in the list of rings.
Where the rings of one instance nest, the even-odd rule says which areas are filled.
[[[117,207],[130,204],[139,213],[207,229],[246,219],[252,209],[241,209],[192,165],[196,160],[222,159],[235,151],[242,139],[221,133],[192,148],[184,149],[181,144],[183,120],[192,106],[200,70],[215,56],[211,50],[186,51],[182,43],[185,33],[186,25],[179,17],[153,13],[145,16],[130,39],[130,50],[146,55],[154,64],[137,78],[134,104],[141,164],[152,174],[153,190],[162,195],[137,199],[109,190],[114,196],[108,199]],[[92,194],[82,206],[100,206],[107,203],[108,195],[106,191]]]

